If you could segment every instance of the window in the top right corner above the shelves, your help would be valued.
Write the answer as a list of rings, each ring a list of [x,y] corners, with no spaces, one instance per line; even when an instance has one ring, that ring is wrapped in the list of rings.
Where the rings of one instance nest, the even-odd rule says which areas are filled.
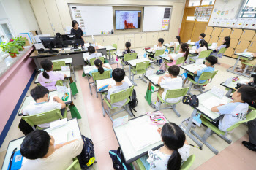
[[[238,18],[256,18],[256,1],[245,0],[244,5],[241,6]]]

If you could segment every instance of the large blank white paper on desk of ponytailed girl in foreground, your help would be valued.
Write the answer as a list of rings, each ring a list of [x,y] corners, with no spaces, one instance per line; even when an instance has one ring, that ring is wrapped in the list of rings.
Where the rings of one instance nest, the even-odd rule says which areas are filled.
[[[135,151],[148,147],[151,144],[161,141],[160,134],[157,132],[157,125],[151,125],[148,122],[130,125],[125,129],[129,141]]]

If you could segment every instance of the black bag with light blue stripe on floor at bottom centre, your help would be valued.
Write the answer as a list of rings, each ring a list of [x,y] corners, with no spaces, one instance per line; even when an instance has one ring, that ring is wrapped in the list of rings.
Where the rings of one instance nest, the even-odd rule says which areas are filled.
[[[121,153],[120,147],[117,150],[109,151],[110,158],[112,159],[113,168],[116,170],[133,170],[131,164],[127,165],[124,161],[124,156]]]

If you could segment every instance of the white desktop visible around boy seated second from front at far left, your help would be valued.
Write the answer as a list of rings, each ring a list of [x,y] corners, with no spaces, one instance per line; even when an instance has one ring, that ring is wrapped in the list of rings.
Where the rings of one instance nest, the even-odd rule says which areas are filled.
[[[67,101],[64,101],[65,104],[70,104],[71,103],[71,90],[70,88],[67,88],[67,91],[69,93],[69,98],[67,99]],[[61,98],[63,96],[63,93],[59,93],[57,90],[55,91],[50,91],[49,93],[50,95],[50,100],[54,97],[54,96],[58,96],[59,98]],[[26,98],[23,101],[23,104],[21,104],[20,110],[19,110],[19,114],[22,113],[22,110],[28,106],[29,104],[31,104],[31,102],[34,101],[34,99],[31,96],[26,96]]]

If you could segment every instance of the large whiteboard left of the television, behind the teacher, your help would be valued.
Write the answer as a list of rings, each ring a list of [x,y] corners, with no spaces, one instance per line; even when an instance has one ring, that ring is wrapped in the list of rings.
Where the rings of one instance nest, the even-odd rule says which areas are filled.
[[[72,20],[78,21],[83,34],[99,35],[102,31],[110,34],[114,29],[112,6],[69,4],[69,10]]]

